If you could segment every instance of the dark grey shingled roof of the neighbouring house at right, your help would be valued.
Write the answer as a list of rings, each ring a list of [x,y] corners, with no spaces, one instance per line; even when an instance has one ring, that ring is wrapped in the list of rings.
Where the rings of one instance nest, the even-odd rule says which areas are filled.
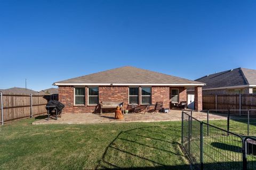
[[[206,83],[204,89],[220,87],[243,87],[256,85],[256,70],[237,68],[215,74],[206,75],[196,81]]]

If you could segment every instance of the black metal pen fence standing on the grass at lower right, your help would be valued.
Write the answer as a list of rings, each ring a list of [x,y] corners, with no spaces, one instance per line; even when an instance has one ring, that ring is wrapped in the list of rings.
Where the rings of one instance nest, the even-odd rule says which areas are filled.
[[[181,142],[193,168],[256,169],[256,138],[218,128],[210,124],[211,118],[207,121],[182,112]]]

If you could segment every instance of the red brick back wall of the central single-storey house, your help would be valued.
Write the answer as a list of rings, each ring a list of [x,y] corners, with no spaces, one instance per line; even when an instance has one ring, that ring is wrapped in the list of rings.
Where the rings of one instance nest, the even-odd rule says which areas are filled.
[[[186,88],[184,87],[171,87],[171,88],[179,89],[180,101],[187,100]],[[151,88],[151,103],[154,105],[157,101],[163,101],[163,107],[170,108],[170,89],[171,88],[168,86],[166,87],[153,86]],[[100,113],[100,108],[98,106],[87,106],[87,87],[85,88],[85,105],[74,106],[74,87],[73,86],[59,86],[59,101],[65,105],[65,108],[63,109],[63,113]],[[99,86],[99,102],[101,101],[124,101],[125,109],[131,109],[131,106],[128,105],[129,87],[128,86]],[[150,109],[154,109],[154,107],[150,107]]]

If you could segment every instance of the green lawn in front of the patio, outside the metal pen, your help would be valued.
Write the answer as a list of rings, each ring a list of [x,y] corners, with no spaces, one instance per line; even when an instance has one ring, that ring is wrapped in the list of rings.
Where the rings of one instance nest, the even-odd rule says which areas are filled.
[[[188,169],[181,122],[1,126],[0,169]]]

